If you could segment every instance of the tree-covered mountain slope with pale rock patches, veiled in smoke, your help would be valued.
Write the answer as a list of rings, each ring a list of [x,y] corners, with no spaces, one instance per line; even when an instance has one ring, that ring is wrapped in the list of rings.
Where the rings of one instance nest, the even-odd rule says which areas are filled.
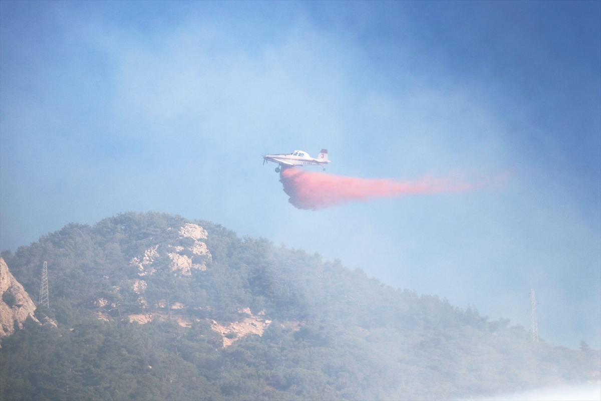
[[[33,299],[47,261],[35,315],[58,323],[2,340],[2,400],[454,399],[599,379],[586,344],[533,343],[207,221],[125,213],[2,257]]]

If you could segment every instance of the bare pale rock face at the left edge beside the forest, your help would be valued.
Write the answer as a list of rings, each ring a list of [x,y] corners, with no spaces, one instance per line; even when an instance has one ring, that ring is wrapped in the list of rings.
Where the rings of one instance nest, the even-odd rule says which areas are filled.
[[[16,326],[22,328],[28,316],[37,322],[34,311],[34,301],[0,257],[0,338],[13,334]]]

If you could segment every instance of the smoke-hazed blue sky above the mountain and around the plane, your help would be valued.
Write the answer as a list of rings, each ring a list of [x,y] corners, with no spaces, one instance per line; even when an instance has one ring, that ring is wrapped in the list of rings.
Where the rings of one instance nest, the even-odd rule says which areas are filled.
[[[0,2],[0,246],[136,210],[601,346],[601,2]],[[495,177],[294,209],[261,155]],[[320,171],[314,168],[314,171]]]

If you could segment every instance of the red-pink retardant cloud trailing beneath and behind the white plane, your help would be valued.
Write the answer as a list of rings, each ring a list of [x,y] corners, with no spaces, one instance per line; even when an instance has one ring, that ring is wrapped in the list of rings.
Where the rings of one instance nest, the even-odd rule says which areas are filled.
[[[370,180],[355,177],[313,173],[287,168],[279,173],[279,182],[290,197],[288,202],[298,209],[317,210],[353,200],[393,198],[406,194],[460,192],[475,188],[450,179],[424,177],[416,181]]]

